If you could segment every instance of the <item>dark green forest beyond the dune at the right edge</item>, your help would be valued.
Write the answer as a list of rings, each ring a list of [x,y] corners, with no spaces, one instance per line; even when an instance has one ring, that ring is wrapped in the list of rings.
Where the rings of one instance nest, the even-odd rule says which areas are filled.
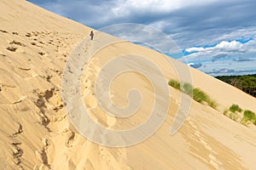
[[[222,76],[216,77],[223,82],[241,89],[247,94],[256,97],[256,74],[246,76]]]

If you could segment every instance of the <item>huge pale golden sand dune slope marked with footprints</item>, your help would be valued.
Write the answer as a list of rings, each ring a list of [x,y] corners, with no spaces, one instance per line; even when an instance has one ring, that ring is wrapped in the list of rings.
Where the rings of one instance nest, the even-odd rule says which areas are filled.
[[[223,115],[232,104],[256,112],[255,98],[131,42],[99,31],[90,41],[89,27],[26,1],[1,1],[0,22],[0,169],[256,169],[255,126]],[[76,54],[79,44],[83,52]],[[88,60],[73,71],[66,65],[71,57]],[[118,65],[108,65],[116,59]],[[193,86],[215,99],[216,109],[167,85],[181,78],[176,67],[189,70]],[[126,70],[115,75],[119,68]],[[76,78],[78,88],[63,89]],[[65,98],[69,91],[79,91],[78,102]],[[79,102],[105,130],[68,114]],[[183,102],[188,116],[177,115],[188,106]],[[125,111],[115,115],[112,105],[113,112]],[[129,133],[143,122],[149,126]],[[128,138],[119,139],[125,130]]]

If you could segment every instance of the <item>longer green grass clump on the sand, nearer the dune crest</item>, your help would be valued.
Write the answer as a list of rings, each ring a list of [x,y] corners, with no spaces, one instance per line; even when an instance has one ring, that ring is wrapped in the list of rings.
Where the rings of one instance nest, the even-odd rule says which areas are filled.
[[[168,83],[172,88],[176,88],[181,90],[184,94],[189,94],[195,101],[199,103],[207,103],[207,105],[211,106],[213,109],[216,109],[218,104],[216,101],[211,99],[204,91],[200,88],[193,88],[193,86],[189,82],[177,82],[176,80],[171,79]]]

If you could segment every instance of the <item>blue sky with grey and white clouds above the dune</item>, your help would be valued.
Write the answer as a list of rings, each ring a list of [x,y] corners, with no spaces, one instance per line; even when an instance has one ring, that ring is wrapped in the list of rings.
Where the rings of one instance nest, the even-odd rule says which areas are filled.
[[[151,26],[172,38],[183,55],[165,54],[212,76],[256,74],[255,0],[29,2],[96,30],[122,23]],[[144,32],[134,33],[148,41]]]

